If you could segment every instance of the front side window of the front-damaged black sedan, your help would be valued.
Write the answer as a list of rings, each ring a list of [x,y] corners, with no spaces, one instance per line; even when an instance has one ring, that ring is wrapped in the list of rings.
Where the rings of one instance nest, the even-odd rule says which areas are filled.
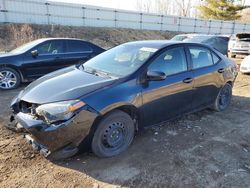
[[[176,47],[163,52],[150,64],[148,70],[164,72],[167,76],[187,71],[184,48]]]

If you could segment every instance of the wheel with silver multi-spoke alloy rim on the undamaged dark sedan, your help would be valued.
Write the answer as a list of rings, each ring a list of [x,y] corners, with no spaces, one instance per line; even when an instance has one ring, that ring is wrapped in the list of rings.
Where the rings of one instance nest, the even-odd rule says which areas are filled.
[[[6,76],[6,73],[10,73],[10,77],[3,77]],[[3,81],[4,79],[9,79],[10,83],[6,84],[7,81]],[[21,77],[20,74],[12,68],[9,67],[1,67],[0,68],[0,89],[2,90],[10,90],[16,89],[21,84]]]

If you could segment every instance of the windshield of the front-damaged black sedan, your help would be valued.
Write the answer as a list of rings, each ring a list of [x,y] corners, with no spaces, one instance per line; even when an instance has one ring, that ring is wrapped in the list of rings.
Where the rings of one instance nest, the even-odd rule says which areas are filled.
[[[139,69],[157,50],[143,44],[123,44],[87,61],[84,71],[125,77]]]

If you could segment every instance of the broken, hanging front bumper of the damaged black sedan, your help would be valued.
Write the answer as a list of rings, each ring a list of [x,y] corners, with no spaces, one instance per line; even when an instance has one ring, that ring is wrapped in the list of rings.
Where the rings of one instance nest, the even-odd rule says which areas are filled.
[[[19,112],[11,117],[11,127],[24,129],[24,138],[45,157],[67,158],[78,152],[78,146],[88,137],[98,113],[84,107],[74,117],[60,124],[48,124],[30,114]],[[60,156],[61,155],[61,156]]]

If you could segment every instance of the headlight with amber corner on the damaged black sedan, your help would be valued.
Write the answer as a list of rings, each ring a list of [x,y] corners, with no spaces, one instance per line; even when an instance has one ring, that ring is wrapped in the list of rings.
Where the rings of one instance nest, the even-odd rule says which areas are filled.
[[[36,113],[44,117],[47,122],[54,123],[70,119],[74,112],[84,105],[85,103],[79,100],[49,103],[37,107]]]

